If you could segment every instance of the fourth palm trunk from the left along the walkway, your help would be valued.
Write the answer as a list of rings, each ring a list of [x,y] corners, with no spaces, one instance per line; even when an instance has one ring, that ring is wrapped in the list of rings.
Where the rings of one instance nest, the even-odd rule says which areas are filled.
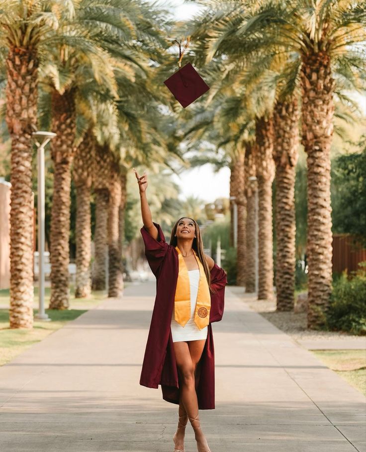
[[[94,232],[94,265],[92,273],[93,290],[105,289],[105,270],[107,262],[107,223],[108,199],[107,188],[94,189],[95,191],[95,232]]]

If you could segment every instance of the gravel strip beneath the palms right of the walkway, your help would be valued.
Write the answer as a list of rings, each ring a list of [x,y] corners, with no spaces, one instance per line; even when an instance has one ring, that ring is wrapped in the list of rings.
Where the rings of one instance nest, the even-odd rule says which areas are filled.
[[[360,342],[365,341],[362,336],[340,332],[340,331],[317,331],[306,328],[306,313],[276,312],[275,301],[266,300],[245,300],[248,305],[263,317],[273,323],[284,333],[289,334],[293,339],[311,340],[335,340],[341,338],[357,338]]]

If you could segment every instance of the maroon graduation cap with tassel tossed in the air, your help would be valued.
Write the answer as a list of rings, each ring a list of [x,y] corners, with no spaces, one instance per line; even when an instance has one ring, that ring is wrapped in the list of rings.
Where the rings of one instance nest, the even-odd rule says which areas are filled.
[[[181,67],[184,51],[189,45],[189,38],[187,38],[183,50],[182,42],[174,42],[176,42],[179,46],[179,70],[169,77],[169,79],[167,79],[164,83],[168,89],[172,91],[174,97],[183,106],[183,108],[185,108],[208,91],[210,87],[205,84],[202,77],[190,63],[187,63],[183,66],[183,68]]]

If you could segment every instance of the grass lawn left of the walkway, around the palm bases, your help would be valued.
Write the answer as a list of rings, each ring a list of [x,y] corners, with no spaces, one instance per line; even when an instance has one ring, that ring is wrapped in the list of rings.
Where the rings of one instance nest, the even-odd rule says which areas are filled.
[[[38,288],[34,288],[35,305],[38,304]],[[69,320],[74,320],[91,307],[98,305],[105,298],[105,292],[92,292],[88,298],[75,298],[71,287],[70,309],[45,309],[51,321],[44,322],[34,318],[32,330],[9,328],[9,310],[0,309],[0,365],[11,361],[36,342],[42,341],[53,331],[62,328]],[[49,305],[50,288],[46,288],[45,306]],[[0,304],[9,305],[9,290],[0,290]],[[33,309],[34,315],[38,309]]]

